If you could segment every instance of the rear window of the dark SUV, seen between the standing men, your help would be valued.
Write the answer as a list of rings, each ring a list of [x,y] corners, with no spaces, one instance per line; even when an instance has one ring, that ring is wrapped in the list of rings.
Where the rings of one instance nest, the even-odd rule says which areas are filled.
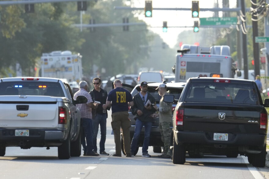
[[[156,102],[159,103],[161,96],[158,94],[158,90],[156,90],[156,87],[148,87],[148,92],[155,98]],[[132,97],[134,97],[135,94],[138,93],[138,90],[140,90],[139,86],[132,92]],[[179,97],[181,95],[182,89],[180,88],[169,88],[167,87],[167,92],[171,95],[175,96],[175,100],[179,100]]]

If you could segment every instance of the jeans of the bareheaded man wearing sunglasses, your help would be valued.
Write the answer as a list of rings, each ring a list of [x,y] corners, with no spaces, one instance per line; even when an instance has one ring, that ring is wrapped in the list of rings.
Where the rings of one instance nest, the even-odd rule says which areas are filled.
[[[94,137],[93,137],[93,145],[94,151],[97,152],[97,134],[100,124],[100,132],[101,132],[101,139],[100,139],[100,150],[99,152],[105,151],[105,139],[106,139],[106,114],[96,114],[95,119],[93,120],[94,124]]]

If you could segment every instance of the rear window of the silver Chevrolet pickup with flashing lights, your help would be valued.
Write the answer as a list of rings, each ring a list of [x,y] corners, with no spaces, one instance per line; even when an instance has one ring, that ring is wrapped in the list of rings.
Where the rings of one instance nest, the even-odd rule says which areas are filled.
[[[64,97],[64,91],[57,82],[12,81],[0,83],[0,95],[36,95]]]

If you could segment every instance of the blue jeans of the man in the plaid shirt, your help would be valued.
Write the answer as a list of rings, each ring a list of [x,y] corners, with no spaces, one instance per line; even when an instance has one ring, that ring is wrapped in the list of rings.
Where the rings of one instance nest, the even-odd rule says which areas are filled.
[[[83,128],[83,134],[81,135],[81,145],[83,147],[84,153],[92,152],[93,135],[94,135],[92,119],[82,118],[82,128]]]

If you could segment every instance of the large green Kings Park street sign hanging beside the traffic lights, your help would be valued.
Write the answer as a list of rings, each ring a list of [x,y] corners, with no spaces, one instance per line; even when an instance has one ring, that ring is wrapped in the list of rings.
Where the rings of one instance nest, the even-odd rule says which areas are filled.
[[[200,26],[236,25],[237,17],[207,17],[200,18]]]

